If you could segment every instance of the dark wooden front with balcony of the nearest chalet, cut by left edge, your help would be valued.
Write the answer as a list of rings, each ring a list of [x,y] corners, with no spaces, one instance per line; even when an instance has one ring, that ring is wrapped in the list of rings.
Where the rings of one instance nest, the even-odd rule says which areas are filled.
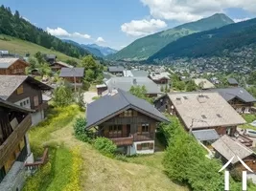
[[[25,134],[32,125],[31,115],[0,106],[0,181],[15,160],[27,158]]]

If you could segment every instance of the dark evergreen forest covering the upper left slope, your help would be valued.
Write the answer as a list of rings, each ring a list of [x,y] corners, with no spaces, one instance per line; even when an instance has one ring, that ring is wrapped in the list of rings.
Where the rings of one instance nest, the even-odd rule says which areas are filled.
[[[0,8],[0,33],[33,42],[47,49],[56,50],[72,57],[79,58],[88,54],[81,47],[62,42],[57,37],[35,27],[23,19],[18,11],[12,14],[11,9],[5,8],[3,5]]]

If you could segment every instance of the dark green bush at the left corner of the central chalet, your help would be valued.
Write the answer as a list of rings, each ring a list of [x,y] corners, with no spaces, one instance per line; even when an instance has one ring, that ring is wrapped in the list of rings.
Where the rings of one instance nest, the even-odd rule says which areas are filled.
[[[83,142],[91,142],[92,140],[92,133],[90,131],[85,130],[86,120],[83,117],[77,118],[74,124],[74,132],[75,137]]]

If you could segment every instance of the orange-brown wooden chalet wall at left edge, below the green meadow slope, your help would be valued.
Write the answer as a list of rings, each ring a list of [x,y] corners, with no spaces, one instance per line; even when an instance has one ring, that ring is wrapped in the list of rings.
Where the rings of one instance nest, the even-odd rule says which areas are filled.
[[[19,74],[25,74],[25,69],[28,67],[29,64],[23,60],[18,59],[12,65],[7,69],[0,69],[0,74],[4,75],[19,75]]]

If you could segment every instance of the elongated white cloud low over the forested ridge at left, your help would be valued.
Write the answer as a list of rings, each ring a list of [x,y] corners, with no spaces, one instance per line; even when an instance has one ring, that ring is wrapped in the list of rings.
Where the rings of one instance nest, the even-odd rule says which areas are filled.
[[[46,32],[49,32],[55,36],[79,37],[79,38],[85,38],[85,39],[91,38],[91,36],[89,34],[86,34],[86,33],[82,34],[80,32],[69,33],[66,30],[59,28],[59,27],[57,29],[50,29],[47,27]]]

